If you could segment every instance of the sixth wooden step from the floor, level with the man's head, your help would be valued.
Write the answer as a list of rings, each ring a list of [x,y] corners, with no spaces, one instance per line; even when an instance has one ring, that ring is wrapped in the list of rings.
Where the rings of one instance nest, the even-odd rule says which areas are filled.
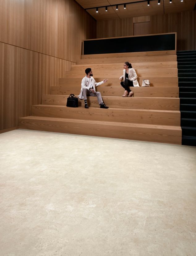
[[[136,69],[135,70],[138,77],[177,77],[178,76],[178,70],[177,68],[154,68],[154,69]],[[93,72],[93,74],[96,77],[105,77],[105,78],[119,78],[123,74],[122,69],[118,70],[96,70],[96,72]],[[83,78],[85,76],[85,69],[84,70],[73,70],[73,71],[66,71],[65,77],[66,78]]]

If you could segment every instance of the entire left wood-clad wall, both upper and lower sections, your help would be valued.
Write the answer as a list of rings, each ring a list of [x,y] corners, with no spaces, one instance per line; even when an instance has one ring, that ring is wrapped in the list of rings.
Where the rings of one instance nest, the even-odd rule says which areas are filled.
[[[96,21],[73,0],[0,1],[0,130],[18,125],[96,37]]]

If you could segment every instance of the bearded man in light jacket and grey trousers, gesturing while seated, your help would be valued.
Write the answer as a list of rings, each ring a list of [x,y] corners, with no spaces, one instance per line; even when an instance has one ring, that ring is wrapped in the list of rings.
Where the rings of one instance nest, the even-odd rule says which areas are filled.
[[[101,97],[101,93],[95,91],[96,86],[106,83],[108,81],[108,79],[104,79],[103,81],[96,83],[95,79],[92,77],[93,74],[92,74],[91,68],[87,68],[85,70],[85,73],[87,75],[82,79],[82,83],[81,83],[82,88],[80,91],[80,95],[78,96],[79,99],[84,99],[84,107],[88,108],[87,96],[97,96],[100,108],[109,108],[109,107],[105,106],[105,104],[102,100],[102,97]]]

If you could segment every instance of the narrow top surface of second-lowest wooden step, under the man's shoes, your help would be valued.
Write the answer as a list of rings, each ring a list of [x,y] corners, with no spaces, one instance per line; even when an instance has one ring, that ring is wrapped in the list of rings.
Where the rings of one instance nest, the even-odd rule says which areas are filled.
[[[32,107],[41,107],[41,106],[45,106],[45,107],[63,107],[63,108],[68,108],[66,105],[47,105],[47,104],[37,104],[37,105],[32,105]],[[77,109],[80,109],[80,108],[84,108],[83,106],[79,106],[77,108],[68,108],[70,110],[77,110]],[[89,107],[88,111],[91,111],[92,110],[97,110],[98,111],[98,107]],[[138,112],[157,112],[157,113],[180,113],[180,111],[178,110],[158,110],[158,109],[139,109],[139,108],[113,108],[113,107],[109,107],[108,110],[121,110],[121,111],[138,111]]]

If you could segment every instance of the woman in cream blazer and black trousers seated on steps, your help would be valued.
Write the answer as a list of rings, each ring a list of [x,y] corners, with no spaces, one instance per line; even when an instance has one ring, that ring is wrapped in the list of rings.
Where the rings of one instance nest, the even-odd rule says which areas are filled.
[[[137,81],[138,76],[134,68],[132,68],[131,63],[125,62],[123,67],[123,75],[119,78],[119,80],[122,80],[122,78],[124,79],[124,82],[121,82],[121,86],[125,89],[122,97],[131,97],[134,95],[134,92],[132,92],[129,87],[139,86],[138,82],[133,84],[133,80]]]

